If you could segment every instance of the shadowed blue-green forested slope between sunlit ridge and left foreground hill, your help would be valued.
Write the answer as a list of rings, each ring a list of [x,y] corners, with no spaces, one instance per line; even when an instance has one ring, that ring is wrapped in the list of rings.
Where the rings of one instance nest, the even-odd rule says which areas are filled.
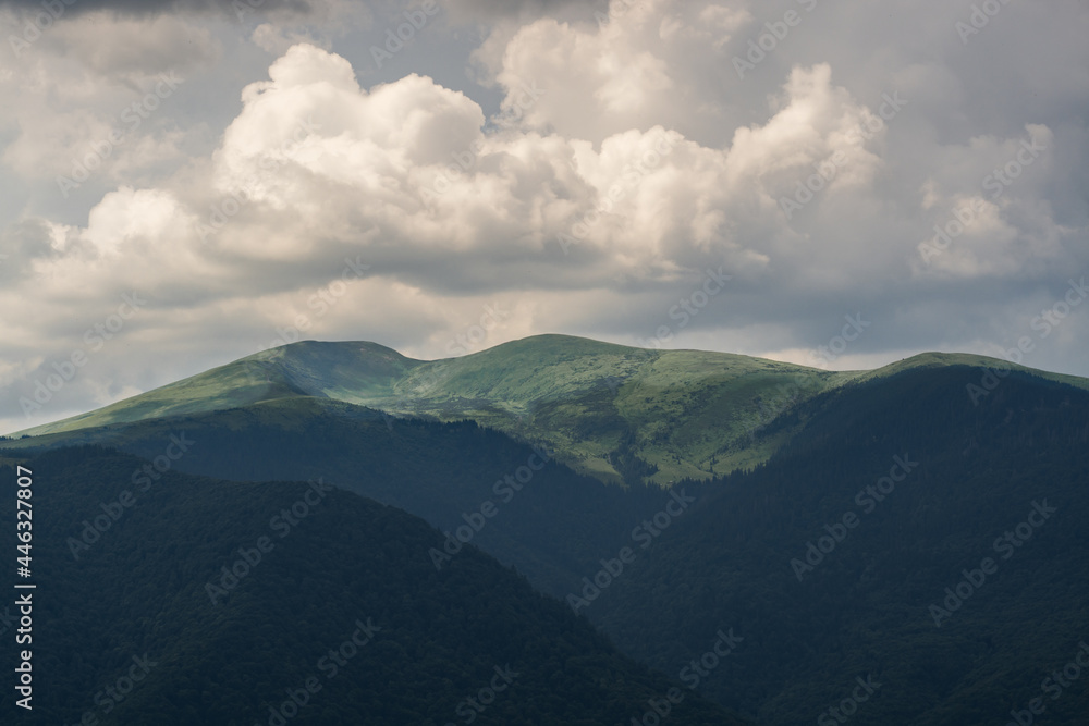
[[[323,477],[455,537],[470,527],[461,529],[462,540],[558,596],[597,569],[599,551],[669,500],[653,485],[603,485],[549,459],[543,448],[472,421],[392,419],[320,399],[90,429],[81,439],[154,459],[182,432],[194,443],[169,462],[172,470],[238,481]]]

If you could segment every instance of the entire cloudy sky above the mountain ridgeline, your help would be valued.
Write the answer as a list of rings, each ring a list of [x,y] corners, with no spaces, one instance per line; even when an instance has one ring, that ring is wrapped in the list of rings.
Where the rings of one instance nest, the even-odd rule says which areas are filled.
[[[1089,376],[1079,0],[0,0],[0,431],[296,340]]]

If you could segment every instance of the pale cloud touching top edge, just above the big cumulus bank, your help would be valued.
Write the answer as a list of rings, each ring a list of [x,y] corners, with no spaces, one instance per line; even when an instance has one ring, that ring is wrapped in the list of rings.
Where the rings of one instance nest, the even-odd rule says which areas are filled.
[[[592,24],[546,17],[501,34],[502,48],[486,44],[477,60],[506,89],[506,106],[527,78],[549,89],[526,114],[540,131],[597,143],[662,125],[720,143],[729,110],[715,78],[729,65],[725,44],[750,20],[717,3],[614,0]]]

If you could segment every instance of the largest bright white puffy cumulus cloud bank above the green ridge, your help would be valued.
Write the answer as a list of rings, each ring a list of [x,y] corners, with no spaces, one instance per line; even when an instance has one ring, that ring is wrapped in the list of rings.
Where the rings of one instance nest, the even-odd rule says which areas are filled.
[[[536,93],[524,90],[526,109],[548,94]],[[709,263],[760,278],[794,254],[779,194],[837,144],[855,167],[829,198],[876,165],[861,138],[841,139],[867,110],[827,66],[795,71],[781,93],[778,111],[725,149],[663,126],[595,148],[522,128],[528,114],[512,119],[510,106],[509,123],[488,131],[476,102],[427,77],[363,89],[342,57],[297,45],[244,89],[209,159],[107,194],[50,276],[115,286],[124,259],[168,297],[182,296],[181,273],[185,297],[205,304],[294,288],[314,260],[360,254],[445,295],[671,285]],[[269,273],[260,285],[252,266]]]

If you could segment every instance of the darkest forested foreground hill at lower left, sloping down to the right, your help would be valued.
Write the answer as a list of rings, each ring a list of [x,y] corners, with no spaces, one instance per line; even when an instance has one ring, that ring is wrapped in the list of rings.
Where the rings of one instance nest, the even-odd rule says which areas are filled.
[[[14,464],[37,515],[21,723],[744,724],[475,547],[436,570],[435,529],[323,482],[169,471],[125,497],[147,460],[12,453],[5,481]]]

